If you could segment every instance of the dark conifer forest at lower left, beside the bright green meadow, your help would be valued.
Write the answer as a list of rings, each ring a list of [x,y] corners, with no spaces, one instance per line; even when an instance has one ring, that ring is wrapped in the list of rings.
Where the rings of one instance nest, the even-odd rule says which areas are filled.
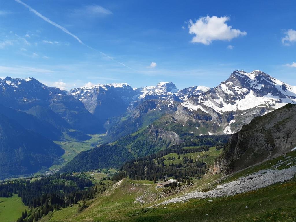
[[[45,176],[32,182],[29,179],[15,179],[0,183],[0,197],[17,194],[31,209],[30,216],[23,212],[17,222],[37,221],[49,211],[92,199],[96,192],[89,178],[70,174]]]

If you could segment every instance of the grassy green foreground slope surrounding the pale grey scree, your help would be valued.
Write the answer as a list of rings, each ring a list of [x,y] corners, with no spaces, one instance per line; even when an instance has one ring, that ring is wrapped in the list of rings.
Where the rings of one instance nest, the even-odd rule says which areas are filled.
[[[289,156],[295,156],[290,152]],[[228,180],[244,176],[260,169],[269,168],[278,161],[269,160],[246,172],[230,175]],[[190,190],[211,186],[220,175],[196,181]],[[226,181],[226,180],[225,180]],[[132,185],[131,183],[147,185]],[[89,207],[77,213],[77,205],[55,211],[44,221],[295,221],[296,220],[296,178],[284,184],[274,184],[263,189],[230,197],[212,198],[213,202],[192,199],[185,203],[152,207],[164,199],[156,194],[151,181],[124,179],[114,190],[108,189],[102,196],[87,202]],[[133,189],[135,188],[135,189]],[[186,192],[190,191],[187,190]],[[136,197],[143,196],[146,203],[133,204]],[[181,195],[181,194],[176,194]],[[175,195],[175,196],[176,196]],[[173,196],[171,196],[173,197]],[[171,198],[170,197],[170,198]],[[148,203],[147,203],[148,201]],[[149,203],[150,201],[150,203]],[[245,208],[245,207],[248,208]],[[167,207],[167,208],[163,208]]]

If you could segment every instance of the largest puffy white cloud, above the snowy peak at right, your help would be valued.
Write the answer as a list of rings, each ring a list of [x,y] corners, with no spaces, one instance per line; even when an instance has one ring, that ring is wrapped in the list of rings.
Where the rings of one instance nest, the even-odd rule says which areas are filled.
[[[247,35],[247,32],[234,29],[227,25],[229,17],[201,17],[195,23],[189,20],[189,33],[195,35],[191,42],[209,45],[215,40],[228,40]]]

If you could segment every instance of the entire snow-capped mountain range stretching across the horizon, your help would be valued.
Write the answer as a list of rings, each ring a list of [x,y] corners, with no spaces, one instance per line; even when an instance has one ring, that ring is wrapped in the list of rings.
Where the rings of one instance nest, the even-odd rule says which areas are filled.
[[[22,130],[48,139],[48,144],[64,133],[77,140],[106,133],[105,142],[125,138],[127,157],[151,154],[194,136],[236,133],[253,118],[288,103],[296,104],[296,87],[259,70],[236,70],[211,89],[178,90],[172,82],[161,82],[143,88],[112,83],[62,91],[34,78],[0,79],[0,114]]]

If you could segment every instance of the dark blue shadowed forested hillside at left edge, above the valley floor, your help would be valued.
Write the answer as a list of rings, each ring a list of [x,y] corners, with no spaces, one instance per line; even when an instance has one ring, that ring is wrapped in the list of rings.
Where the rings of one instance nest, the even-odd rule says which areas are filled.
[[[57,144],[0,114],[0,179],[50,167],[64,154]]]

